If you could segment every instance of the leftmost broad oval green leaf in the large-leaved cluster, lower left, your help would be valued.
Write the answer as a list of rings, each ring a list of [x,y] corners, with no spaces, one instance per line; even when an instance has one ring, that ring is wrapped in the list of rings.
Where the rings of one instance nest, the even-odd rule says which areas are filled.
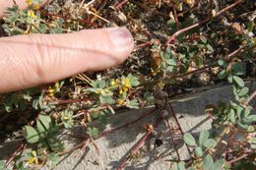
[[[25,126],[23,134],[26,141],[30,143],[38,142],[40,139],[38,133],[31,126]]]

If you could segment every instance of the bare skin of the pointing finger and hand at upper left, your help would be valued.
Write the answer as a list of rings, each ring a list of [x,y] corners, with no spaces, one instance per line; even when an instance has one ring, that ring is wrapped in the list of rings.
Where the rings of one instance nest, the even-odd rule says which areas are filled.
[[[25,0],[16,2],[26,8]],[[13,0],[0,0],[0,18],[12,5]],[[0,93],[110,68],[123,62],[133,47],[133,37],[126,28],[1,37]]]

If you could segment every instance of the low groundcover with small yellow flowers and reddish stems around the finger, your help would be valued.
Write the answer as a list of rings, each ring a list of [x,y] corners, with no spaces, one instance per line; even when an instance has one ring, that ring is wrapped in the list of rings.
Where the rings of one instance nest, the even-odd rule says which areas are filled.
[[[26,10],[15,0],[7,9],[1,36],[126,27],[135,47],[114,68],[0,94],[2,142],[24,139],[6,160],[0,160],[1,170],[54,168],[61,156],[83,151],[89,143],[99,152],[97,139],[153,114],[157,121],[142,125],[145,135],[117,169],[143,156],[142,148],[156,136],[161,122],[168,127],[174,148],[171,160],[161,160],[169,163],[169,169],[255,168],[252,103],[256,91],[246,84],[255,81],[256,75],[255,1],[53,0],[43,7],[40,0],[26,3]],[[233,99],[205,106],[211,130],[197,136],[183,132],[169,99],[213,85],[231,85]],[[153,110],[137,120],[105,130],[116,112],[152,105]],[[170,125],[169,117],[176,126]],[[99,122],[96,126],[95,121]],[[74,127],[84,128],[83,138],[73,135]],[[68,147],[59,141],[63,129],[64,136],[80,142]],[[174,136],[186,145],[189,158],[179,155]],[[162,143],[160,139],[154,142],[146,149]]]

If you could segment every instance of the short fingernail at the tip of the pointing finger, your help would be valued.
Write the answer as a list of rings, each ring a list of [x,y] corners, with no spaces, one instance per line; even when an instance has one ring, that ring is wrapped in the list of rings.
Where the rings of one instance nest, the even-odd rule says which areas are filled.
[[[109,37],[115,46],[131,45],[133,37],[127,28],[109,28]]]

